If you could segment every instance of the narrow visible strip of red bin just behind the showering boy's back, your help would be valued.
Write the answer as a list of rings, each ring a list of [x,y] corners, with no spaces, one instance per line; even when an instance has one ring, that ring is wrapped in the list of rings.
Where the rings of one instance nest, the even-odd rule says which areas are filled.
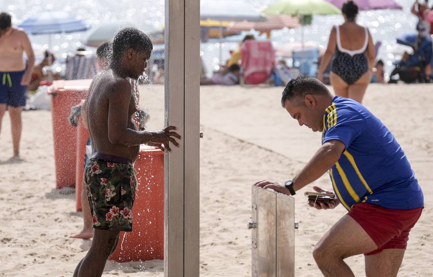
[[[77,158],[75,168],[75,204],[77,212],[81,211],[81,190],[83,187],[84,159],[86,155],[87,140],[89,140],[89,131],[84,127],[83,119],[80,116],[77,125]]]

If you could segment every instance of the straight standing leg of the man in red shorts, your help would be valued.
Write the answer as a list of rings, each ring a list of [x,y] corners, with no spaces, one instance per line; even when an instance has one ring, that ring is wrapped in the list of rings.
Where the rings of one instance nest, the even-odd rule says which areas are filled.
[[[375,255],[365,256],[365,276],[395,277],[403,261],[405,249],[384,249]]]

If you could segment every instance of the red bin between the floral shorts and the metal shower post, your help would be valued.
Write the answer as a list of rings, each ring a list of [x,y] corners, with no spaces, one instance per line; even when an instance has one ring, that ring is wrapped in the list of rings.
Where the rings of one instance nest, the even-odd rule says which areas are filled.
[[[164,259],[164,152],[142,146],[134,168],[139,181],[132,208],[132,232],[120,232],[110,260]]]

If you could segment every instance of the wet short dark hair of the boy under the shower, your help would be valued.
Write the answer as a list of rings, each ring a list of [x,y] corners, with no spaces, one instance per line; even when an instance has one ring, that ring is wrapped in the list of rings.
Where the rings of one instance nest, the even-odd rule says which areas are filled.
[[[150,38],[136,28],[125,28],[117,33],[112,43],[113,60],[118,60],[128,49],[151,52],[153,44]]]

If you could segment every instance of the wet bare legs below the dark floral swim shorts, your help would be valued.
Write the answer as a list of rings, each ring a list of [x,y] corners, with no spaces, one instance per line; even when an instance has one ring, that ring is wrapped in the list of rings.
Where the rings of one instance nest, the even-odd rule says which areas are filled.
[[[120,231],[94,229],[87,255],[78,263],[73,277],[100,277],[108,257],[114,252]]]

